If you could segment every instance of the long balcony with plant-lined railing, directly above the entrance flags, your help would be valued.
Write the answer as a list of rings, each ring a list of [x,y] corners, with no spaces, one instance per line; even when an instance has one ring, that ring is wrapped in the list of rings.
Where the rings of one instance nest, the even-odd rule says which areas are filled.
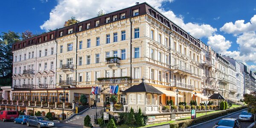
[[[130,83],[130,77],[105,77],[98,78],[99,84]]]

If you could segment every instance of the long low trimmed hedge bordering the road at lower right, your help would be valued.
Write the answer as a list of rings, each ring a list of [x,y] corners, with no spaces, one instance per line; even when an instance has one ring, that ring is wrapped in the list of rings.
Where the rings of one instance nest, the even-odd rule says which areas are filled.
[[[186,128],[186,127],[189,127],[191,125],[195,125],[197,123],[206,122],[208,120],[215,119],[215,118],[220,117],[220,116],[225,116],[228,113],[233,113],[233,112],[242,110],[244,108],[247,108],[247,106],[242,106],[242,107],[239,107],[239,108],[233,108],[233,109],[229,109],[229,110],[226,110],[226,111],[221,111],[221,112],[218,112],[218,113],[211,113],[211,114],[206,115],[206,116],[200,116],[196,119],[185,119],[185,120],[182,120],[182,121],[177,121],[177,122],[171,123],[170,128]]]

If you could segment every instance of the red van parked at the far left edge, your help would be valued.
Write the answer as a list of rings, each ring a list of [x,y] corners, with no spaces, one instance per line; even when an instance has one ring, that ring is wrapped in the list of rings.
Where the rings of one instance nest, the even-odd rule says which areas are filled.
[[[18,116],[19,116],[18,111],[1,111],[0,112],[0,120],[3,120],[3,122],[7,120],[13,121]]]

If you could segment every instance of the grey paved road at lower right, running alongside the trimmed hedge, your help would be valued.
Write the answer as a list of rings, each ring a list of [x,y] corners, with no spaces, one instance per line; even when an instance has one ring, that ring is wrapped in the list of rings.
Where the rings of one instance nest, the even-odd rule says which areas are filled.
[[[238,119],[238,116],[241,112],[239,113],[233,113],[231,115],[228,115],[228,116],[225,116],[223,118],[236,118]],[[211,122],[207,122],[205,124],[202,124],[202,125],[198,125],[196,127],[193,127],[193,128],[213,128],[215,126],[215,122],[218,122],[220,119],[215,119]],[[241,121],[241,128],[247,128],[250,124],[252,124],[253,122],[244,122],[244,121]]]

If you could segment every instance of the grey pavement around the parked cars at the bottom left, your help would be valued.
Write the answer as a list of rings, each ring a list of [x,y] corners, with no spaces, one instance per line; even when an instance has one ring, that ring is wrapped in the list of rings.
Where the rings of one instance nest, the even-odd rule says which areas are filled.
[[[60,122],[54,122],[55,126],[51,128],[83,128],[82,125],[73,125],[73,124],[67,124],[67,123],[60,123]],[[0,128],[37,128],[33,126],[26,126],[21,124],[15,124],[14,122],[3,122],[0,121]]]

